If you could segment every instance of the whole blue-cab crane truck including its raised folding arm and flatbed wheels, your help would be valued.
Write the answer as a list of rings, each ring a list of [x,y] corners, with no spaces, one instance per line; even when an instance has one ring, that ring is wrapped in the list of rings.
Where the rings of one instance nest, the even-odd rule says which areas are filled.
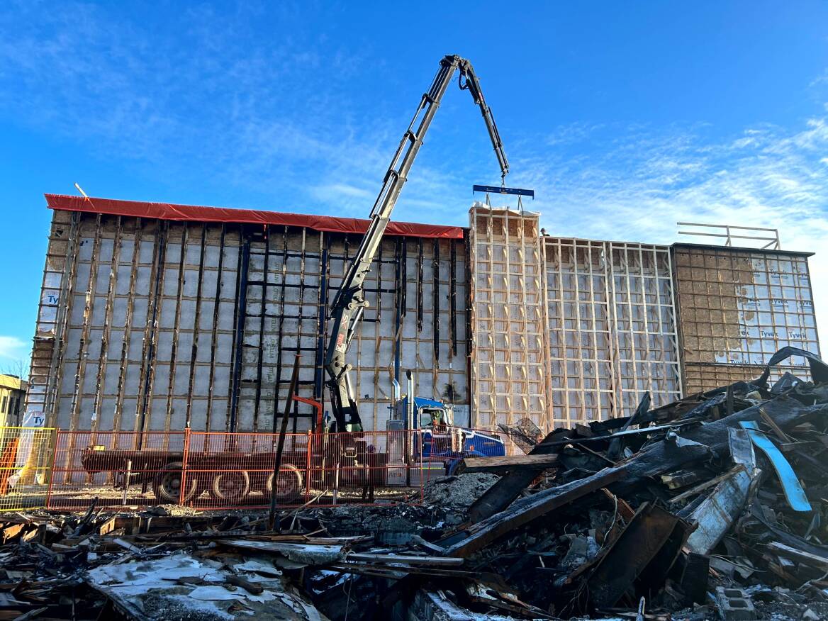
[[[407,396],[397,402],[392,424],[402,424],[403,430],[416,432],[404,436],[407,440],[402,450],[397,446],[397,450],[389,447],[385,454],[378,453],[369,444],[368,437],[363,434],[359,402],[349,375],[352,370],[352,365],[348,362],[349,346],[362,320],[363,311],[368,306],[363,282],[371,269],[392,211],[397,204],[397,198],[407,181],[423,138],[431,126],[446,89],[458,72],[460,89],[469,91],[489,132],[501,172],[501,193],[515,194],[521,191],[505,188],[505,179],[509,171],[508,160],[503,151],[503,142],[497,125],[494,123],[492,110],[484,99],[474,67],[465,58],[446,55],[440,60],[440,67],[431,87],[422,95],[412,122],[402,135],[383,178],[377,200],[373,204],[368,230],[331,305],[333,331],[325,354],[325,372],[334,421],[328,433],[322,434],[321,430],[317,430],[307,455],[306,451],[298,451],[296,455],[287,451],[282,457],[282,468],[275,485],[272,473],[267,474],[267,468],[262,468],[264,463],[272,464],[272,453],[248,453],[235,447],[223,451],[190,450],[185,458],[181,452],[106,450],[102,446],[90,446],[82,455],[84,469],[90,474],[105,470],[113,471],[116,474],[115,479],[123,481],[123,484],[151,484],[156,499],[165,503],[177,502],[180,499],[188,502],[207,490],[213,498],[223,503],[242,503],[249,493],[257,491],[266,497],[275,493],[279,503],[289,504],[298,498],[303,489],[310,489],[311,483],[330,484],[327,480],[307,480],[311,473],[321,473],[315,476],[322,478],[331,476],[330,455],[337,456],[337,473],[344,474],[341,479],[339,474],[336,475],[337,484],[364,484],[364,481],[359,479],[359,473],[364,471],[370,472],[368,476],[373,479],[382,478],[384,472],[395,471],[388,468],[389,462],[396,459],[389,457],[392,452],[402,455],[404,469],[410,469],[411,465],[416,463],[422,465],[424,462],[437,462],[442,463],[448,471],[466,455],[505,455],[505,445],[498,436],[455,426],[449,405],[433,399],[414,397],[410,373]],[[307,402],[300,397],[293,398]],[[320,409],[319,403],[314,405]],[[417,440],[412,441],[411,438]],[[188,469],[192,471],[186,476],[183,476],[181,471],[184,460],[187,460]],[[227,468],[229,461],[235,466],[234,469]],[[407,477],[410,479],[410,475]],[[372,480],[371,483],[394,482]]]

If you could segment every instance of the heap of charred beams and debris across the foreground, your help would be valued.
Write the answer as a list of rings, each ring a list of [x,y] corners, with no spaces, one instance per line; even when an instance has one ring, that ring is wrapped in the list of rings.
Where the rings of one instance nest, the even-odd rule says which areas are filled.
[[[771,369],[792,355],[811,378]],[[828,365],[469,457],[421,506],[8,514],[2,619],[826,619]],[[162,513],[158,515],[157,513]]]

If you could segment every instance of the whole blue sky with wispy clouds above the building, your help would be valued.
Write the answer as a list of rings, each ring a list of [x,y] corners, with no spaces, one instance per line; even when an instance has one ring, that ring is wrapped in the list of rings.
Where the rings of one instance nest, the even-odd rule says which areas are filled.
[[[676,221],[816,251],[828,330],[825,2],[20,2],[0,12],[0,370],[26,359],[44,192],[364,217],[442,55],[472,60],[552,234]],[[395,219],[466,224],[498,167],[452,88]]]

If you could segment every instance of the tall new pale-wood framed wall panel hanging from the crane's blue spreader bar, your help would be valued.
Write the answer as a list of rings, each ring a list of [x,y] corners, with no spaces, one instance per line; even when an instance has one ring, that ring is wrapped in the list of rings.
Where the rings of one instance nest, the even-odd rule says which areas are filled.
[[[476,205],[471,218],[472,424],[549,427],[538,214]]]

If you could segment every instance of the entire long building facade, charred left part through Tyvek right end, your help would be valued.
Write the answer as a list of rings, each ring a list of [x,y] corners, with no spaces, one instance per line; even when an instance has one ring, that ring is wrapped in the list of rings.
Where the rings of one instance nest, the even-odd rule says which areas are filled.
[[[296,354],[299,395],[328,409],[327,309],[364,221],[46,200],[27,424],[271,431]],[[351,349],[360,414],[384,430],[408,369],[461,425],[544,431],[754,378],[785,345],[819,354],[808,256],[557,238],[484,205],[467,229],[392,223]]]

